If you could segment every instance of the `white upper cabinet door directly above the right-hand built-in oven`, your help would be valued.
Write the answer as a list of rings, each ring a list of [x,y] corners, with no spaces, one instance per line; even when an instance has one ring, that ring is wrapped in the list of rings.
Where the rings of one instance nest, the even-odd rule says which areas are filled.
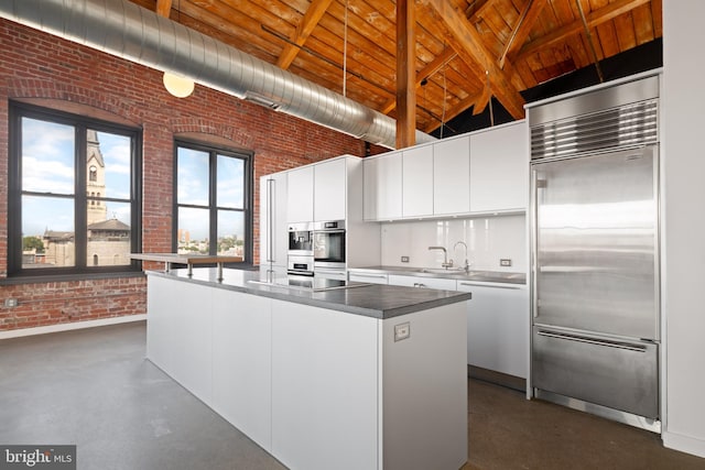
[[[345,220],[346,189],[346,159],[314,165],[314,220]]]

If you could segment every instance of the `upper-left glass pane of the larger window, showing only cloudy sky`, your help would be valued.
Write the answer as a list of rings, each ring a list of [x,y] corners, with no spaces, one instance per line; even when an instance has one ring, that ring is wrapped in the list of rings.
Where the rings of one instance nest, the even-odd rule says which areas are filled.
[[[74,194],[72,125],[22,118],[22,190]]]

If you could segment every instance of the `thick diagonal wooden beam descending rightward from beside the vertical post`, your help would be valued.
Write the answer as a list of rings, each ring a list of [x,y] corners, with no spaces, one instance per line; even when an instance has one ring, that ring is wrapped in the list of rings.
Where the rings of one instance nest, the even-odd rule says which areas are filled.
[[[458,12],[448,0],[426,0],[446,25],[451,39],[455,40],[454,48],[458,56],[474,70],[486,70],[489,75],[491,94],[502,103],[505,109],[514,119],[524,117],[524,99],[511,83],[511,70],[499,68],[499,64],[492,54],[482,44],[482,39],[477,30],[468,22],[465,14]],[[452,44],[453,45],[453,44]],[[484,75],[477,74],[477,78],[485,80]]]

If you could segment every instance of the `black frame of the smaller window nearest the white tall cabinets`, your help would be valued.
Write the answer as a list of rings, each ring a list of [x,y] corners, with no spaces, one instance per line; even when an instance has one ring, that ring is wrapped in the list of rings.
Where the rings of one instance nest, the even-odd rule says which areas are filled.
[[[199,206],[193,204],[180,204],[178,203],[178,149],[189,149],[198,152],[208,153],[208,206]],[[228,146],[216,145],[212,143],[199,142],[195,140],[176,139],[174,141],[174,208],[173,208],[173,226],[172,226],[172,251],[176,253],[178,251],[178,208],[207,208],[208,209],[208,254],[216,255],[218,250],[218,210],[238,211],[239,209],[225,208],[217,206],[217,159],[218,155],[239,159],[245,162],[243,171],[243,204],[241,211],[245,214],[245,247],[243,247],[243,260],[236,263],[226,263],[234,267],[251,267],[253,265],[254,256],[254,241],[252,239],[254,229],[254,154],[250,151],[241,149],[234,149]]]

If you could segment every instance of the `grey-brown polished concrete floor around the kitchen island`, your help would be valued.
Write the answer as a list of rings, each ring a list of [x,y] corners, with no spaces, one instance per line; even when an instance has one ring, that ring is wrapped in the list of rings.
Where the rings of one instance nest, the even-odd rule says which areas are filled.
[[[76,444],[80,470],[284,469],[144,350],[144,323],[0,341],[0,444]],[[468,400],[464,470],[705,469],[658,435],[509,389],[470,381]]]

